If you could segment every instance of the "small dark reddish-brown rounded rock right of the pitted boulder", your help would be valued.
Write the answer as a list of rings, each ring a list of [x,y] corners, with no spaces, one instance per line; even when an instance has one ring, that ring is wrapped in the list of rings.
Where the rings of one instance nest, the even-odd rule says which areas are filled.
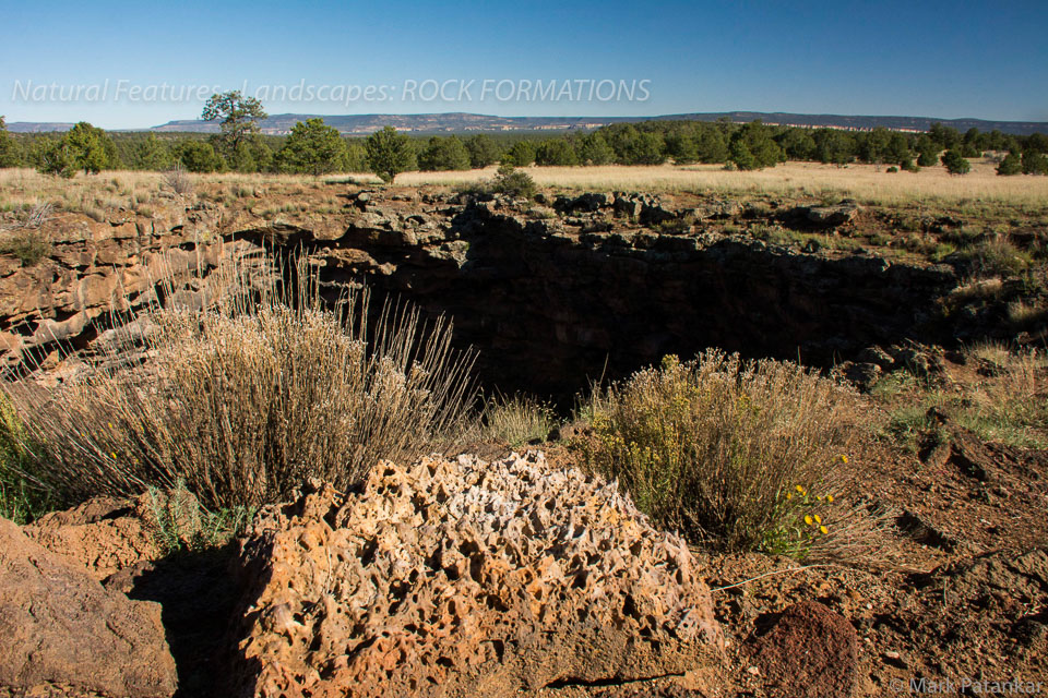
[[[858,637],[817,601],[787,607],[753,646],[770,698],[849,698],[858,681]]]

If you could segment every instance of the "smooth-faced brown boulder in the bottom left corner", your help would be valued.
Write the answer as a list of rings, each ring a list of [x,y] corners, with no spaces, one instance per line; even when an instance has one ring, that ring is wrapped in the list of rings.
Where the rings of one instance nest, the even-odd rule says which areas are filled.
[[[131,601],[0,519],[0,696],[171,696],[160,607]]]

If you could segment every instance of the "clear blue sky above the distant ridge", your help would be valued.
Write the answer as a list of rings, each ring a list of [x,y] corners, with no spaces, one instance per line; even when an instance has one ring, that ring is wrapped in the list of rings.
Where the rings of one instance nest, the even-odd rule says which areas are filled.
[[[0,113],[8,121],[156,125],[199,117],[203,99],[188,94],[191,87],[210,94],[212,87],[245,84],[249,94],[302,84],[327,88],[311,101],[263,93],[270,113],[640,116],[743,109],[1048,121],[1044,0],[650,7],[58,0],[8,3],[3,23]],[[446,83],[444,94],[453,98],[428,99],[425,91],[405,98],[409,81],[427,80]],[[492,82],[481,94],[486,80]],[[559,98],[538,99],[534,85],[522,88],[522,80],[544,81],[547,88],[558,81]],[[602,80],[614,81],[603,87],[605,96],[615,92],[614,98],[590,94],[591,84]],[[501,93],[509,98],[492,96],[499,81],[510,81]],[[563,81],[595,82],[572,83],[562,92]],[[616,87],[619,81],[650,82],[634,87],[630,99]],[[56,94],[52,83],[66,93]],[[361,92],[345,104],[353,86],[368,85],[376,91],[370,100]],[[78,86],[80,98],[72,93]],[[461,98],[460,86],[466,87]],[[136,100],[129,99],[132,87],[143,91]]]

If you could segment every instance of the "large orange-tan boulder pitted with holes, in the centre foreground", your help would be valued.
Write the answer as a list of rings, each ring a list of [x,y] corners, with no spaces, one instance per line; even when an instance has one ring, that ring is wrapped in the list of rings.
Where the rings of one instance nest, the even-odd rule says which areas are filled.
[[[718,662],[710,591],[615,484],[532,453],[382,464],[263,510],[240,695],[511,696]]]

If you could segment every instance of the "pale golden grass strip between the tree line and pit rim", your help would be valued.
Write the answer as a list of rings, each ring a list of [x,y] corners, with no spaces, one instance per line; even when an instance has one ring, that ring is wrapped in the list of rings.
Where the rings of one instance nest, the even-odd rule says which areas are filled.
[[[590,191],[645,191],[736,196],[787,196],[819,200],[856,198],[873,205],[929,205],[950,207],[1004,205],[1017,213],[1048,214],[1048,178],[999,177],[995,165],[973,160],[972,172],[949,174],[942,167],[919,172],[888,172],[883,166],[853,164],[846,167],[815,163],[786,163],[760,171],[730,171],[717,165],[660,165],[524,168],[539,186]],[[496,168],[452,172],[404,172],[398,186],[462,186],[495,176]],[[218,186],[264,185],[277,190],[318,184],[379,184],[369,173],[242,174],[237,172],[192,174],[198,190]],[[164,188],[160,172],[109,171],[78,174],[64,180],[31,169],[0,170],[0,210],[17,210],[51,203],[67,210],[133,209],[148,203]]]

